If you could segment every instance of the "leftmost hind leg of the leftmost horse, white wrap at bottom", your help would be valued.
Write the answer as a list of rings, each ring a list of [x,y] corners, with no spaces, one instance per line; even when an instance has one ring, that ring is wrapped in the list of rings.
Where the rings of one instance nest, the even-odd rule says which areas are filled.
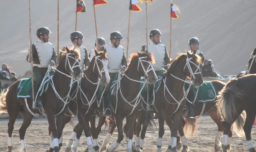
[[[8,100],[7,100],[8,101]],[[12,106],[7,106],[7,112],[9,115],[9,122],[8,122],[8,151],[7,152],[12,152],[12,132],[14,129],[14,123],[16,118],[18,117],[18,114],[20,112],[20,106],[17,100],[9,100],[9,101],[14,101],[12,103]],[[6,102],[7,104],[8,102]]]

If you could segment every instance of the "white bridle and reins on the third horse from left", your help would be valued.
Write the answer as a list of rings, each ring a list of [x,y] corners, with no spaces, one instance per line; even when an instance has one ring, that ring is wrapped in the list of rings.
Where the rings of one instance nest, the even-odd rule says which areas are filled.
[[[150,61],[142,60],[142,59],[145,59],[145,58],[147,58],[147,57],[146,57],[146,56],[139,57],[137,71],[139,72],[139,66],[141,65],[141,66],[142,66],[142,69],[143,69],[143,71],[144,71],[144,73],[145,73],[145,76],[147,76],[147,78],[148,78],[148,72],[151,71],[151,70],[153,70],[153,72],[154,72],[154,69],[153,69],[153,65],[152,65],[152,63],[151,63]],[[147,62],[147,63],[149,64],[147,70],[144,68],[142,62]],[[142,88],[140,89],[140,91],[139,91],[139,93],[137,94],[137,96],[135,97],[135,99],[129,102],[129,101],[127,101],[127,100],[125,99],[125,97],[123,96],[123,93],[122,93],[122,91],[121,91],[121,87],[120,87],[120,84],[121,84],[121,72],[119,71],[118,80],[116,81],[116,83],[117,83],[117,88],[116,88],[116,101],[118,101],[118,99],[117,99],[117,95],[118,95],[117,91],[119,90],[119,91],[120,91],[121,98],[122,98],[125,102],[127,102],[129,105],[131,105],[131,106],[133,107],[133,109],[131,110],[131,113],[129,114],[129,115],[131,115],[132,112],[133,112],[133,110],[135,109],[135,107],[140,103],[140,97],[141,97],[140,94],[141,94],[141,91],[143,90],[144,86],[146,85],[146,83],[148,83],[148,79],[145,79],[145,81],[137,81],[137,80],[134,80],[134,79],[129,78],[127,75],[125,75],[124,72],[123,72],[123,75],[124,75],[125,77],[127,77],[127,78],[128,78],[129,80],[131,80],[131,81],[143,83],[143,86],[142,86]],[[146,77],[145,77],[145,78],[146,78]],[[135,103],[134,103],[134,104],[131,104],[131,103],[134,102],[134,101],[135,101]],[[116,109],[117,109],[117,102],[116,102]],[[115,114],[116,114],[116,109],[115,109]],[[129,116],[129,115],[128,115],[128,116]]]

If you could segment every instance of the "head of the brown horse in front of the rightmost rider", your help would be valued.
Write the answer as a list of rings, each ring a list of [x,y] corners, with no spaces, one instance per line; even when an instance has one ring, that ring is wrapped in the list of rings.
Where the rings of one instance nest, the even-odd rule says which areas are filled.
[[[186,50],[187,59],[186,66],[184,67],[184,73],[186,73],[193,81],[195,86],[201,86],[204,82],[201,72],[200,64],[201,58],[196,54],[196,50],[193,50],[193,53],[190,53]]]

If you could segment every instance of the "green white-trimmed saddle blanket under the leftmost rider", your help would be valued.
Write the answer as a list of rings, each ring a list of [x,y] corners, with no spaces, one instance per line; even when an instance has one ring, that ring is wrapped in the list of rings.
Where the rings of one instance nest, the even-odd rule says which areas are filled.
[[[49,72],[49,75],[52,77],[54,75],[55,71],[51,70]],[[48,89],[49,89],[49,78],[47,77],[45,81],[43,81],[43,87],[39,90],[39,96],[41,97]],[[21,79],[18,84],[18,91],[16,98],[33,98],[32,96],[32,79],[30,78],[24,78]]]

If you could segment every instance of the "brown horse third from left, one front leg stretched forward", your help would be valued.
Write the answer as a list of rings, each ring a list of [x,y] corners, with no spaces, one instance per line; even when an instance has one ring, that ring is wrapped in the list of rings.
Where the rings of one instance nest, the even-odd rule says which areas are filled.
[[[128,118],[127,122],[129,126],[127,151],[132,151],[133,127],[141,103],[141,76],[144,76],[148,83],[154,83],[157,80],[152,63],[154,63],[154,58],[147,51],[145,53],[137,52],[137,54],[132,54],[131,62],[124,76],[121,80],[118,80],[119,85],[117,85],[116,93],[110,98],[118,129],[118,139],[107,149],[108,152],[114,151],[123,140],[123,119],[125,117]]]

